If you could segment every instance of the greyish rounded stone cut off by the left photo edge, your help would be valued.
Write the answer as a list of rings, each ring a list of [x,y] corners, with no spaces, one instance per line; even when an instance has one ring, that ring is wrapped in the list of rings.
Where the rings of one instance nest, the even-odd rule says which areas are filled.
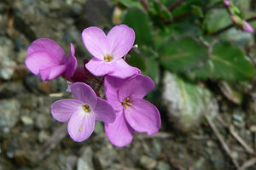
[[[20,103],[15,99],[0,100],[0,131],[9,133],[11,127],[19,121]]]

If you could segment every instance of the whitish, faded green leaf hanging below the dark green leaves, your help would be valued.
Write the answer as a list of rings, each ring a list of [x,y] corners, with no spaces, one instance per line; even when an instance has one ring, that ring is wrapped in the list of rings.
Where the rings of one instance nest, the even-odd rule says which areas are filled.
[[[205,114],[217,115],[218,103],[207,88],[186,82],[168,71],[164,74],[163,86],[167,116],[176,122],[177,128],[189,131],[200,124]]]

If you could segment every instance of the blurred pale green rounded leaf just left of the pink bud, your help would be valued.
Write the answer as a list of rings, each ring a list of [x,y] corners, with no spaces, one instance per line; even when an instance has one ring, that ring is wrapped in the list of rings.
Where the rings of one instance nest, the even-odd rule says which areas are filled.
[[[230,15],[224,8],[210,10],[204,20],[204,27],[208,33],[218,31],[231,24]]]

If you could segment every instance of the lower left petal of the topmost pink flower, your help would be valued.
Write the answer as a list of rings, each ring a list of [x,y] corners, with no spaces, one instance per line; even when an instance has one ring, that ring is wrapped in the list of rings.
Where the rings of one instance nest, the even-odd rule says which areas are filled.
[[[92,58],[85,64],[86,69],[90,71],[96,77],[102,77],[107,75],[109,72],[113,71],[113,62],[106,62],[100,59]]]

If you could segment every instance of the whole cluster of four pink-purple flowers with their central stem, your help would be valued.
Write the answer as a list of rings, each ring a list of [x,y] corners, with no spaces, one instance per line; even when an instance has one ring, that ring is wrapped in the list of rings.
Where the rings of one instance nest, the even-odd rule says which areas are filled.
[[[74,99],[61,99],[51,105],[55,120],[68,122],[67,131],[77,142],[90,137],[96,121],[105,123],[108,139],[119,147],[130,144],[135,131],[157,133],[160,113],[143,99],[154,88],[154,82],[123,59],[133,47],[135,32],[120,25],[106,35],[91,26],[84,29],[82,39],[93,56],[84,66],[78,66],[73,44],[68,56],[46,38],[35,40],[27,49],[28,70],[43,81],[65,78],[73,94]],[[102,85],[106,99],[99,97]]]

